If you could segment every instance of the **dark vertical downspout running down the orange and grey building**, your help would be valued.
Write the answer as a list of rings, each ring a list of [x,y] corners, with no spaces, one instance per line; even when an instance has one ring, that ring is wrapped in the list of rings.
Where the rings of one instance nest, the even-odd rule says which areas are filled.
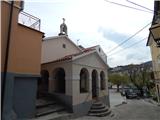
[[[2,112],[3,112],[3,108],[4,108],[4,96],[5,96],[5,89],[6,89],[8,57],[9,57],[9,47],[10,47],[11,28],[12,28],[12,16],[13,16],[13,5],[14,5],[14,1],[11,1],[8,34],[7,34],[6,54],[5,54],[5,63],[4,63],[4,76],[3,76],[3,82],[2,82]],[[2,114],[2,116],[3,116],[3,114]]]

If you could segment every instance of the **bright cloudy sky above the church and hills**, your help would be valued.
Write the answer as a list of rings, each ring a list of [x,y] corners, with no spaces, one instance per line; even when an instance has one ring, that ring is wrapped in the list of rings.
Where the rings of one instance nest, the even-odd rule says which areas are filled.
[[[140,64],[151,60],[150,48],[146,43],[153,12],[131,2],[153,10],[154,1],[109,0],[143,11],[107,1],[25,0],[24,11],[41,19],[41,31],[45,33],[45,37],[57,36],[62,18],[65,18],[68,37],[75,44],[84,47],[100,45],[107,55],[110,67]],[[149,25],[139,34],[115,48],[147,24]]]

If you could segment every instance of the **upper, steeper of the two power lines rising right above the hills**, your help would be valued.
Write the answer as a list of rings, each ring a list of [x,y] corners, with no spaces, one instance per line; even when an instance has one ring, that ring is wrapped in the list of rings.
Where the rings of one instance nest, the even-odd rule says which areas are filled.
[[[123,42],[121,42],[120,44],[118,44],[117,46],[115,46],[114,48],[112,48],[108,53],[111,53],[112,51],[116,50],[119,46],[123,45],[124,43],[126,43],[127,41],[129,41],[131,38],[133,38],[134,36],[136,36],[138,33],[140,33],[142,30],[144,30],[147,26],[149,26],[152,22],[148,23],[147,25],[145,25],[143,28],[141,28],[140,30],[138,30],[135,34],[133,34],[132,36],[130,36],[129,38],[127,38],[126,40],[124,40]]]

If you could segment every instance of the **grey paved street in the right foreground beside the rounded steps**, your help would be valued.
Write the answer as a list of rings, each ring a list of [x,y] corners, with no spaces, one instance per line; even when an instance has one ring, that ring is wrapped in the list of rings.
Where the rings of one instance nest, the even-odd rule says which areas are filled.
[[[112,112],[113,117],[84,116],[75,120],[160,120],[160,106],[143,99],[127,100],[127,104],[112,108]]]

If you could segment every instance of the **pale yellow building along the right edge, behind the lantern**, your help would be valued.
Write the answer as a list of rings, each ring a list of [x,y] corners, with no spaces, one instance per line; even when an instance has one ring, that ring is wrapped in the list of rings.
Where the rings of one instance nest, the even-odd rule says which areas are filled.
[[[160,1],[154,2],[154,16],[151,28],[160,28]],[[160,36],[160,29],[157,29],[156,32],[157,35]],[[160,46],[158,47],[158,42],[155,42],[155,38],[151,31],[149,33],[147,46],[150,46],[151,50],[156,93],[158,102],[160,102]]]

